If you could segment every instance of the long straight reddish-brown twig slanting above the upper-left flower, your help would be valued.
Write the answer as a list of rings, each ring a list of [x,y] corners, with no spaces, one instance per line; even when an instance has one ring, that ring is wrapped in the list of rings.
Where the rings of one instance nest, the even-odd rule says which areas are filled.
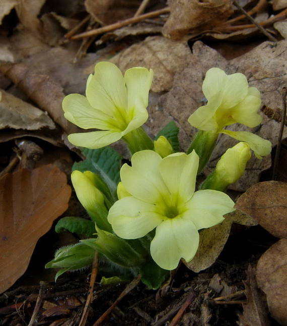
[[[89,37],[89,36],[95,36],[95,35],[103,34],[103,33],[106,33],[106,32],[113,31],[113,30],[115,30],[117,28],[127,26],[129,24],[138,23],[138,22],[140,22],[140,21],[142,21],[144,19],[157,17],[159,15],[166,14],[166,13],[169,13],[169,12],[170,12],[169,7],[166,7],[166,8],[160,9],[160,10],[153,11],[151,13],[140,15],[140,16],[137,16],[137,17],[128,18],[128,19],[125,19],[125,20],[121,20],[121,21],[119,21],[117,23],[114,23],[114,24],[111,24],[111,25],[107,25],[107,26],[104,26],[104,27],[92,29],[90,31],[87,31],[87,32],[84,32],[84,33],[81,33],[81,34],[74,35],[70,39],[76,40],[76,39],[81,39],[81,38],[85,38],[85,37]]]

